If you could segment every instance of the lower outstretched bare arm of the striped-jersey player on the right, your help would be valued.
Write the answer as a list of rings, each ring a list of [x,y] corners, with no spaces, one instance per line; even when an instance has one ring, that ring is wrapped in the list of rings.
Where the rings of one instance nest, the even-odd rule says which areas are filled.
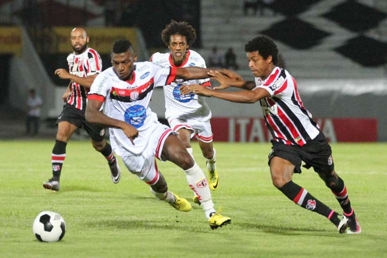
[[[185,95],[188,93],[195,93],[201,96],[212,96],[238,103],[254,103],[261,98],[270,96],[270,93],[263,88],[225,92],[210,90],[198,84],[183,85],[180,88],[180,94]]]

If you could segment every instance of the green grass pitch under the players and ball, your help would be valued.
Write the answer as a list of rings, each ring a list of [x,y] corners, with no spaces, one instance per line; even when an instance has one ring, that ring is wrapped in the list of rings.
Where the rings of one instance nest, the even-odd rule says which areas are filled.
[[[211,230],[192,203],[179,212],[121,166],[113,184],[103,157],[88,141],[70,141],[61,190],[44,190],[53,140],[0,142],[0,257],[381,257],[387,256],[385,143],[332,144],[362,233],[340,235],[326,218],[275,189],[267,166],[269,144],[216,143],[219,188],[215,206],[232,223]],[[194,143],[194,155],[204,159]],[[191,200],[183,171],[158,162],[169,189]],[[331,208],[339,204],[312,170],[293,180]],[[66,221],[63,239],[42,243],[32,221],[42,210]]]

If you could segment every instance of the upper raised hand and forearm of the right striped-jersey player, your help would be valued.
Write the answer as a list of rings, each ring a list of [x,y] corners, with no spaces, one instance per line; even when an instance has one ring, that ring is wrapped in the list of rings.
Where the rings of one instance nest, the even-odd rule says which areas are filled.
[[[230,86],[237,87],[237,88],[243,88],[251,90],[255,88],[255,82],[253,81],[246,81],[243,80],[242,77],[227,69],[220,69],[220,70],[210,70],[208,72],[208,75],[211,76],[211,79],[217,80],[220,85],[217,87],[213,87],[213,89],[225,89]]]

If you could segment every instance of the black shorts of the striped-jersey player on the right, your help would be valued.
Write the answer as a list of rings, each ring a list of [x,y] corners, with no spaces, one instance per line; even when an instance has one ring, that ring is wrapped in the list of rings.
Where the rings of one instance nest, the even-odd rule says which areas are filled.
[[[287,145],[271,140],[271,152],[268,155],[268,163],[274,156],[290,161],[294,166],[294,173],[301,172],[301,161],[303,167],[313,167],[317,173],[331,172],[334,169],[332,150],[322,132],[302,147]]]

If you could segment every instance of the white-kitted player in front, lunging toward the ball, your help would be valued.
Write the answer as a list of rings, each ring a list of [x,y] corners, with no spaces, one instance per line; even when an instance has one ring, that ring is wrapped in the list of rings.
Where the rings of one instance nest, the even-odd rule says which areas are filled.
[[[151,187],[158,198],[178,210],[189,211],[190,203],[169,192],[158,171],[156,160],[169,160],[185,172],[189,187],[201,201],[209,226],[214,229],[231,221],[215,212],[207,178],[186,151],[175,132],[158,122],[149,101],[155,86],[169,84],[176,77],[208,77],[208,69],[176,68],[152,62],[135,62],[136,55],[126,39],[114,41],[112,67],[101,72],[88,93],[86,120],[109,127],[114,152],[121,156],[130,172]],[[104,103],[103,112],[99,109]]]

